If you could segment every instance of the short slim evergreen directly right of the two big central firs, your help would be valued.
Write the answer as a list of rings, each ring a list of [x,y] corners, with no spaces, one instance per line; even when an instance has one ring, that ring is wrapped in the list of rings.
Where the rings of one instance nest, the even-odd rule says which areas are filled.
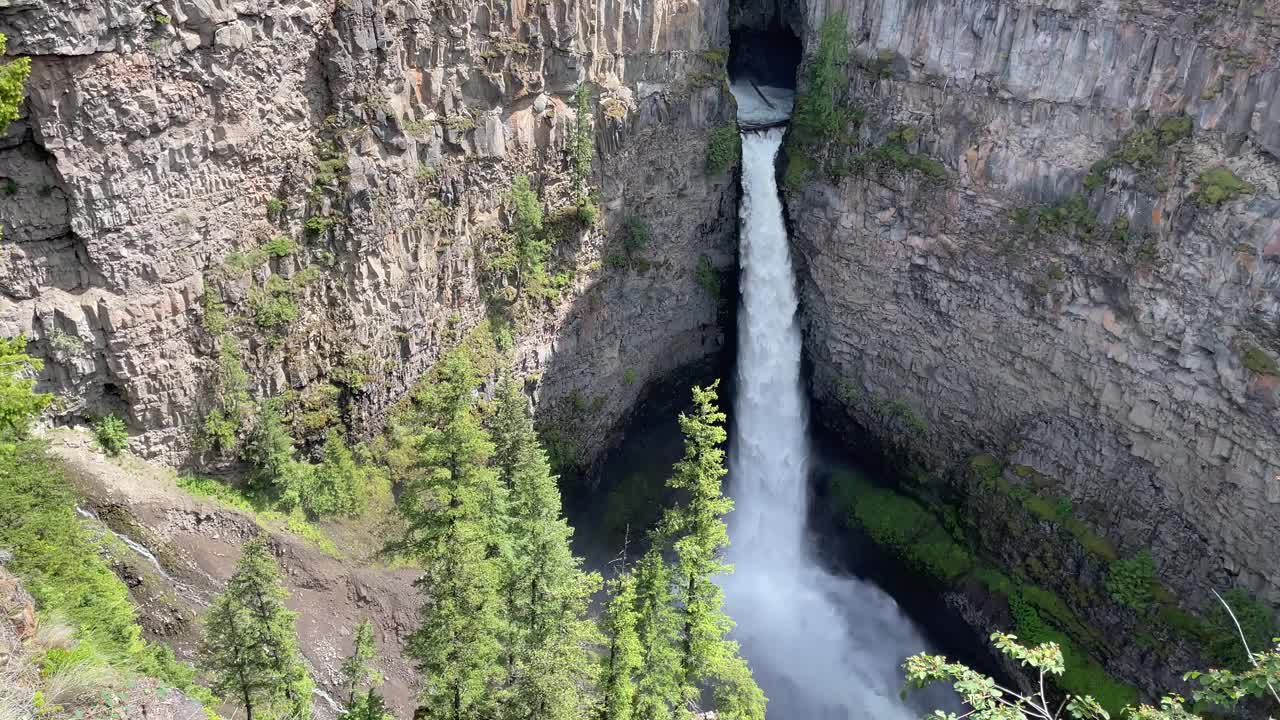
[[[630,573],[609,582],[609,605],[604,611],[608,652],[600,670],[603,720],[631,720],[635,710],[635,675],[644,650],[636,635],[636,580]]]

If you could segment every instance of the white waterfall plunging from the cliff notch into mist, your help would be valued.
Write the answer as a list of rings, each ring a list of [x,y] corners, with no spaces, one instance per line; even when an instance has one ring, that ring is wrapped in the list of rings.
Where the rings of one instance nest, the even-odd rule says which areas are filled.
[[[785,120],[735,86],[744,127]],[[769,720],[915,720],[900,700],[902,659],[924,639],[879,588],[823,570],[806,538],[809,436],[800,328],[774,158],[782,129],[742,133],[737,387],[730,445],[726,607],[769,697]]]

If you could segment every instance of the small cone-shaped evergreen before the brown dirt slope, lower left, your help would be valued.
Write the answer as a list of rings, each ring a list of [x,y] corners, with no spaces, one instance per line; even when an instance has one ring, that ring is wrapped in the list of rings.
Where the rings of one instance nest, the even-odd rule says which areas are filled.
[[[205,616],[201,656],[211,689],[241,705],[246,720],[311,716],[311,678],[287,597],[280,569],[259,537],[244,543],[227,589]]]

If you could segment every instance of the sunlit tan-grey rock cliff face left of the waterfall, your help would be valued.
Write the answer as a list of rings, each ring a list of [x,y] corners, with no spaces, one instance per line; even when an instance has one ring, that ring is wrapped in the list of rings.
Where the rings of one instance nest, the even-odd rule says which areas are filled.
[[[134,450],[187,456],[216,300],[256,395],[357,369],[346,411],[376,427],[511,292],[484,272],[513,177],[552,215],[572,201],[580,85],[603,213],[561,223],[517,370],[544,407],[591,402],[589,457],[650,379],[722,345],[696,281],[736,233],[732,176],[701,160],[732,118],[704,53],[728,44],[719,0],[17,0],[0,32],[33,58],[0,141],[0,333],[49,359],[67,416],[124,415]],[[628,218],[650,236],[630,254]]]

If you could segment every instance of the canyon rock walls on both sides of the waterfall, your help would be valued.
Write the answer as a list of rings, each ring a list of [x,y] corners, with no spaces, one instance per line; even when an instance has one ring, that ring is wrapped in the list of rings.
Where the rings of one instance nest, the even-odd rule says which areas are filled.
[[[838,133],[792,127],[780,169],[813,421],[1064,598],[1108,671],[1176,688],[1201,651],[1110,600],[1112,564],[1149,551],[1170,616],[1280,605],[1277,28],[1270,0],[10,0],[0,334],[55,424],[119,414],[159,462],[227,465],[198,443],[227,342],[256,397],[371,437],[513,292],[486,264],[527,176],[563,232],[513,369],[590,468],[732,337],[728,73],[803,49],[803,97],[837,37]]]

